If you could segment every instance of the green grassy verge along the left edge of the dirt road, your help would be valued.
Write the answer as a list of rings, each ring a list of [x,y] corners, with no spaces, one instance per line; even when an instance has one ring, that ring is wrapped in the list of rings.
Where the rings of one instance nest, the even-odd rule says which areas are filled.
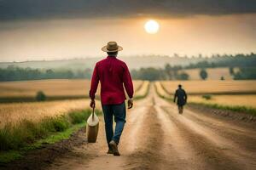
[[[100,111],[96,111],[99,115]],[[90,110],[72,111],[64,116],[44,118],[41,122],[22,121],[15,127],[7,125],[0,129],[0,163],[14,161],[27,150],[54,144],[84,127]]]

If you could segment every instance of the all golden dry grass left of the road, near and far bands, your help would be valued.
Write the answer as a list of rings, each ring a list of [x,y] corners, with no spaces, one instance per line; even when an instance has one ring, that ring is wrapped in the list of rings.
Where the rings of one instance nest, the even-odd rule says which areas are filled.
[[[135,96],[142,95],[147,90],[149,82],[135,81]],[[5,95],[32,95],[39,89],[43,89],[46,94],[51,95],[76,95],[79,93],[88,93],[90,81],[82,80],[47,80],[32,82],[2,82],[1,90],[9,87],[9,91],[4,91]],[[12,92],[10,89],[20,89]],[[81,89],[80,89],[81,88]],[[139,89],[138,89],[139,88]],[[100,90],[98,90],[99,94]],[[3,95],[1,92],[1,96]],[[63,115],[73,110],[84,110],[89,108],[90,99],[67,99],[46,102],[26,102],[26,103],[10,103],[0,104],[0,128],[11,123],[15,124],[23,119],[38,122],[45,116]],[[96,107],[100,109],[100,102],[96,103]]]

